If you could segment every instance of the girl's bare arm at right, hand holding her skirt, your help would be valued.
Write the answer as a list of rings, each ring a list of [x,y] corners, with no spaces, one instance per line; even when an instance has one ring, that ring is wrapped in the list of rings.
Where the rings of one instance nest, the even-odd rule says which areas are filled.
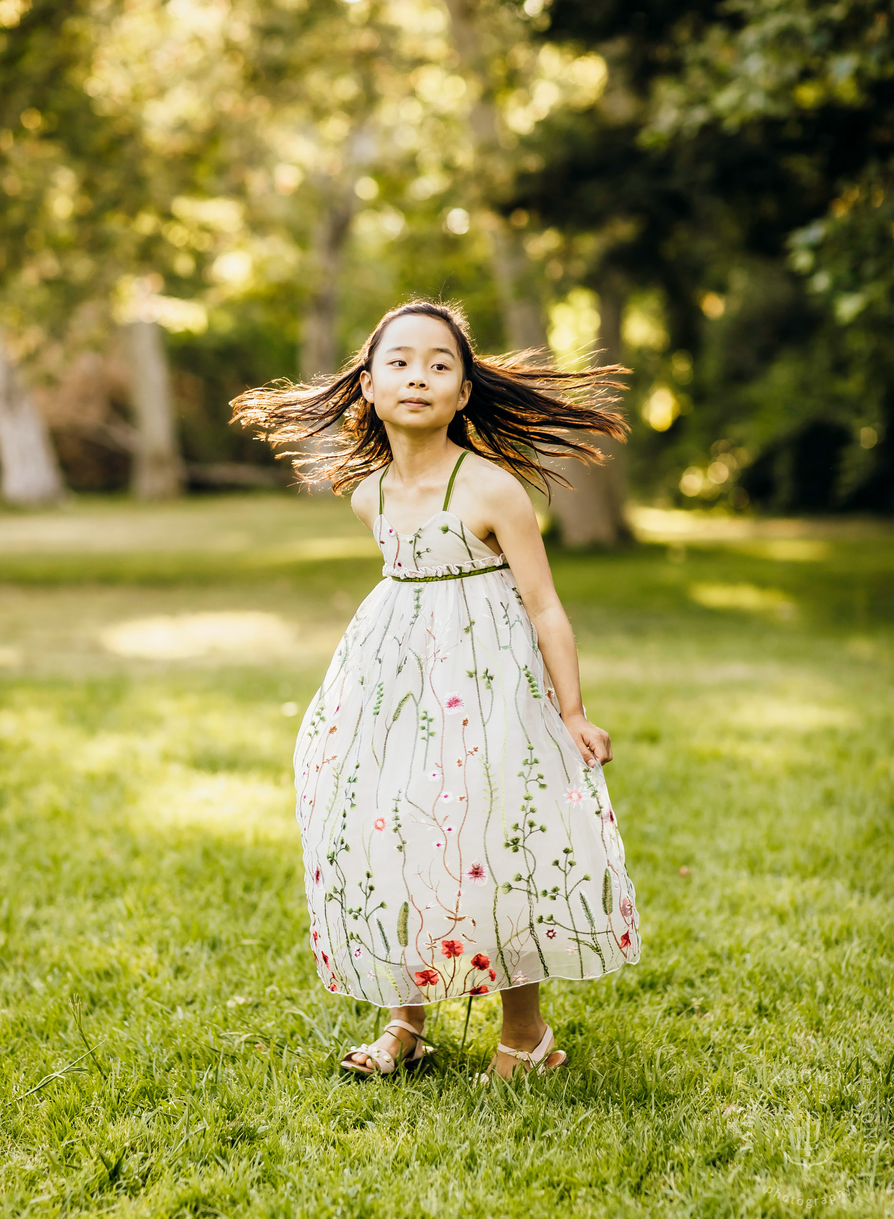
[[[482,483],[485,484],[479,492],[482,514],[488,518],[509,560],[518,594],[537,630],[562,722],[588,766],[611,762],[609,734],[590,724],[584,714],[574,635],[552,584],[533,505],[524,489],[505,471],[490,467]]]

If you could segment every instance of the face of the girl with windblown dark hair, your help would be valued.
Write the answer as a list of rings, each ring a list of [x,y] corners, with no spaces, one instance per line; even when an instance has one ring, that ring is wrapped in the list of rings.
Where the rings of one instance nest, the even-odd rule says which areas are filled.
[[[411,432],[446,428],[472,391],[450,327],[423,313],[388,323],[360,382],[383,423]]]

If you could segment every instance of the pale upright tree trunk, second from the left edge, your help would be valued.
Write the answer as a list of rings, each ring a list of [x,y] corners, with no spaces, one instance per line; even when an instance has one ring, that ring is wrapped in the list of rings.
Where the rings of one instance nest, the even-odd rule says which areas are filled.
[[[124,327],[137,438],[131,489],[138,500],[170,500],[183,491],[185,471],[177,439],[165,340],[157,322]]]

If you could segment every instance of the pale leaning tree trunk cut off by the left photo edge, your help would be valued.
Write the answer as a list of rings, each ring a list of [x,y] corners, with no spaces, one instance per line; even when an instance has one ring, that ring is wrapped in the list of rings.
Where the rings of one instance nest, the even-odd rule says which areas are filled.
[[[65,484],[46,424],[0,344],[0,494],[9,503],[52,503]]]

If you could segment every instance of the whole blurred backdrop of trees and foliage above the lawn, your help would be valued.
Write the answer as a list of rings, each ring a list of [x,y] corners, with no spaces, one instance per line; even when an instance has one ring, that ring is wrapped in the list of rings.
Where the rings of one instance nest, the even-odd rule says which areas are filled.
[[[4,0],[4,494],[288,482],[228,400],[409,295],[634,369],[556,503],[890,512],[894,82],[871,0]],[[626,468],[624,468],[626,467]]]

